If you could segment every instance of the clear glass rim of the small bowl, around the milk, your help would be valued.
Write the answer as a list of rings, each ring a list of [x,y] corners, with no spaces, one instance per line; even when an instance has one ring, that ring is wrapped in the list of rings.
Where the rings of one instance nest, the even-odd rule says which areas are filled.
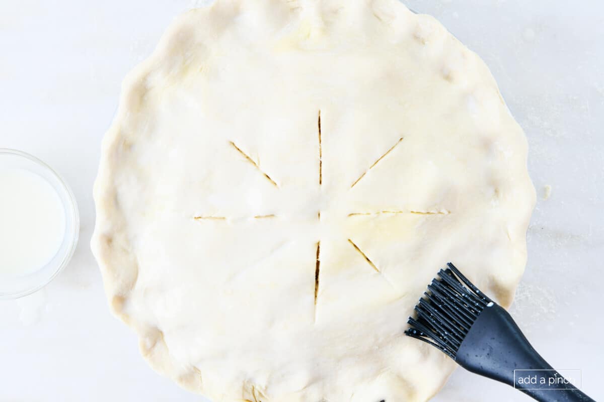
[[[25,169],[33,172],[50,183],[59,195],[65,208],[65,237],[59,250],[47,265],[31,274],[0,280],[0,300],[23,297],[42,289],[68,265],[76,250],[80,234],[80,216],[76,198],[65,181],[50,166],[25,152],[0,148],[0,169]]]

